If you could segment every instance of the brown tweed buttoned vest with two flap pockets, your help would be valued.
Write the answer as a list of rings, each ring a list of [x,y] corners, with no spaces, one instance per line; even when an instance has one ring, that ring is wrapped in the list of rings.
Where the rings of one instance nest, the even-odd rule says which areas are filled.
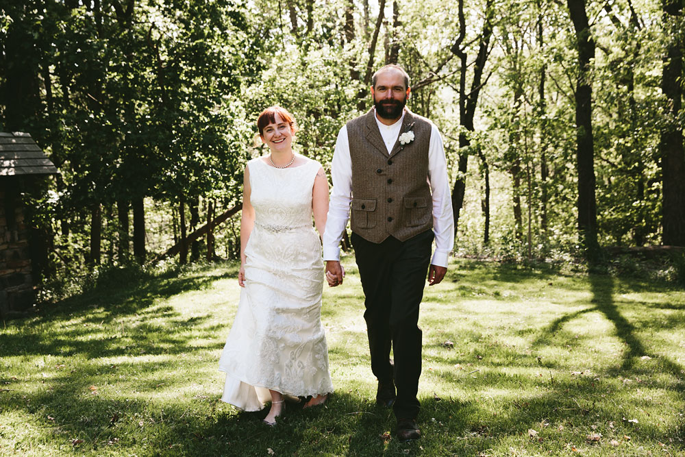
[[[351,228],[372,243],[388,236],[406,241],[433,227],[428,184],[431,123],[405,111],[400,135],[411,130],[414,140],[388,156],[372,109],[347,123],[352,160]]]

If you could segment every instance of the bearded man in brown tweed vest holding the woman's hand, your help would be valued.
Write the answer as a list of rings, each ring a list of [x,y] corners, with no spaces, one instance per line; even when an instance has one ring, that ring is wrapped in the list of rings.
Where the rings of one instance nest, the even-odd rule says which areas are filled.
[[[371,371],[378,379],[376,402],[393,406],[397,437],[406,441],[421,437],[416,425],[419,305],[426,275],[432,286],[447,272],[454,242],[452,207],[440,132],[405,109],[410,95],[406,71],[386,65],[374,73],[371,83],[374,108],[349,121],[338,134],[323,259],[329,285],[342,284],[345,273],[338,245],[351,208],[351,241],[366,297]]]

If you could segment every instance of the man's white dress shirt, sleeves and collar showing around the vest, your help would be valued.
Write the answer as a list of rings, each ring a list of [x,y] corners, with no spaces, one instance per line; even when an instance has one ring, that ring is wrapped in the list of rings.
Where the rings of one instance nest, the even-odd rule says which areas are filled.
[[[393,125],[385,125],[377,117],[375,119],[389,156],[399,136],[404,114]],[[440,137],[438,127],[434,124],[431,125],[427,176],[433,200],[433,232],[435,234],[435,253],[431,263],[438,267],[447,267],[447,256],[449,256],[449,251],[454,245],[452,201],[449,192],[443,138]],[[333,192],[328,208],[326,230],[323,233],[323,260],[340,260],[340,238],[343,238],[343,231],[347,227],[349,206],[352,201],[352,160],[349,153],[347,126],[345,125],[338,133],[331,164],[331,176],[333,178]]]

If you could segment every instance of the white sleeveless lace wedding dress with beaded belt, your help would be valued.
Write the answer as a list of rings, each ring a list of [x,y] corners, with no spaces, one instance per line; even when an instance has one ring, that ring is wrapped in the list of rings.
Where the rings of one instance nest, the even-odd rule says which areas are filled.
[[[245,247],[245,288],[219,360],[224,402],[256,411],[269,389],[306,396],[333,391],[321,324],[323,261],[312,227],[312,188],[321,164],[277,169],[247,164],[255,225]]]

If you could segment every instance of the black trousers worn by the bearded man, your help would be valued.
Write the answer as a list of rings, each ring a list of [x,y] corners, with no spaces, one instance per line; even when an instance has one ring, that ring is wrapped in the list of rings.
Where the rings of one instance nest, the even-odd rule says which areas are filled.
[[[371,371],[382,382],[394,374],[397,399],[393,410],[398,419],[415,419],[419,414],[419,306],[433,236],[433,231],[427,230],[406,241],[390,236],[382,243],[371,243],[355,233],[351,236],[364,290]],[[395,356],[394,373],[390,345]]]

